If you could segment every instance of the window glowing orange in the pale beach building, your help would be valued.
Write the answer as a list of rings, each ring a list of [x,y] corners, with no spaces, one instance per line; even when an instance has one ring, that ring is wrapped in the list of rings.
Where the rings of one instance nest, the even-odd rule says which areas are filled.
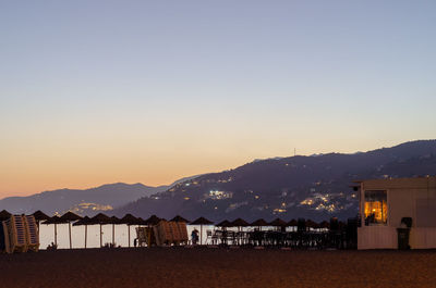
[[[365,224],[386,224],[387,215],[386,191],[365,191]]]

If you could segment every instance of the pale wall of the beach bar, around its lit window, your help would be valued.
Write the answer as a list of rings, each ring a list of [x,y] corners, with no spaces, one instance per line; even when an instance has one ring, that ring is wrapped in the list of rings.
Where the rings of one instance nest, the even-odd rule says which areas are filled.
[[[436,248],[436,177],[376,179],[361,183],[360,211],[364,220],[365,190],[387,190],[387,225],[358,228],[358,249],[397,249],[397,228],[412,217],[412,249]]]

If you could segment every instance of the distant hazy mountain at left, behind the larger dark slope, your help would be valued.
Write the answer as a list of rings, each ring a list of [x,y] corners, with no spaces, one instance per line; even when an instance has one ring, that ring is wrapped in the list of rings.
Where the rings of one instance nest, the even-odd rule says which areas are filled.
[[[117,183],[85,190],[60,189],[28,197],[8,197],[0,200],[0,208],[15,214],[29,214],[41,210],[51,215],[71,210],[77,214],[93,215],[168,188],[169,186],[149,187],[140,183]]]

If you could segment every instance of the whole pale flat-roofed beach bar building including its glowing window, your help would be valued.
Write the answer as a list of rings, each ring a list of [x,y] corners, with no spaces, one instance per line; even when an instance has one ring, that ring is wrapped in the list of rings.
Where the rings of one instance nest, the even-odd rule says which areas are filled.
[[[436,248],[435,176],[358,184],[358,249]]]

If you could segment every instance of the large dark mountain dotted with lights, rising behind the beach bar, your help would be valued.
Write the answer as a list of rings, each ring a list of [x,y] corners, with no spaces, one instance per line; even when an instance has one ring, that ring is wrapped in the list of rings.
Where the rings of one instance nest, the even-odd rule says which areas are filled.
[[[143,197],[113,213],[147,217],[181,214],[213,221],[243,217],[315,221],[358,213],[350,185],[356,179],[436,174],[436,140],[405,142],[353,154],[328,153],[256,160],[234,170],[205,174]]]

